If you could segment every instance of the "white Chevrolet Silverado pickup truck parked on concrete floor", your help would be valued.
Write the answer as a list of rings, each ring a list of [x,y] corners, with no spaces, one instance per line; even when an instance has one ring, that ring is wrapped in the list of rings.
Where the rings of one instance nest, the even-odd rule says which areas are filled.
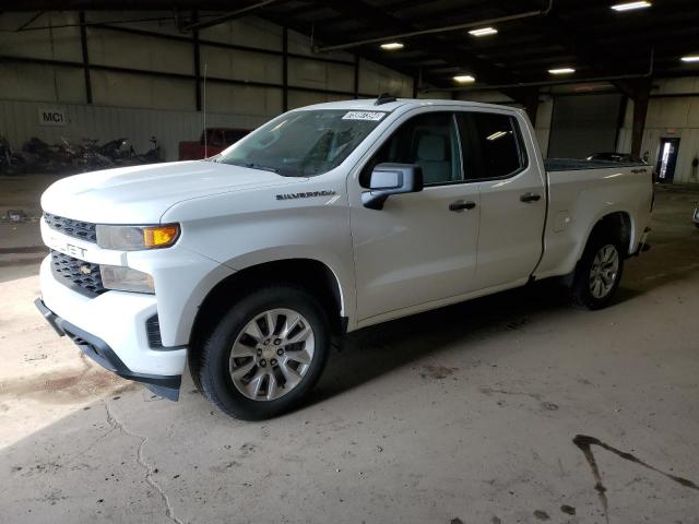
[[[297,404],[331,341],[568,276],[596,309],[649,233],[645,165],[552,160],[525,114],[379,97],[286,112],[209,160],[88,172],[43,195],[38,309],[176,400]]]

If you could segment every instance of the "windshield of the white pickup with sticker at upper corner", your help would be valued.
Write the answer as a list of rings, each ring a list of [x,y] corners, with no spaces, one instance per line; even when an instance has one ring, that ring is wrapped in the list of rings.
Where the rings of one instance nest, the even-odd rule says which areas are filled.
[[[217,162],[311,177],[337,167],[383,119],[383,111],[294,111],[265,123]]]

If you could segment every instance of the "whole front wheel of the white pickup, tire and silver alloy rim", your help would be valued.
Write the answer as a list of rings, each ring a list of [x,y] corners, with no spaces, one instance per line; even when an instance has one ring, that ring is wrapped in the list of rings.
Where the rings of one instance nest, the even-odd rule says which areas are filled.
[[[234,418],[280,415],[316,384],[330,341],[328,318],[312,295],[293,285],[254,290],[237,301],[204,344],[203,393]]]

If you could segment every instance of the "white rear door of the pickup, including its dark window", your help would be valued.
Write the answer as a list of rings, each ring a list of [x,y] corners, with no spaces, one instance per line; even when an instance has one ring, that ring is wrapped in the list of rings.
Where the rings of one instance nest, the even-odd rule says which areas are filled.
[[[471,181],[479,186],[478,288],[524,283],[543,250],[545,179],[524,119],[509,111],[459,114]]]

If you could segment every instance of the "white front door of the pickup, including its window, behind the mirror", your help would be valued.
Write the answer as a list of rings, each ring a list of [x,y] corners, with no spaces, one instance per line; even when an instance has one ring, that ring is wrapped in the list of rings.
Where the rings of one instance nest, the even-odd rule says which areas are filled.
[[[360,322],[387,313],[399,317],[402,309],[474,286],[478,187],[464,180],[454,114],[428,109],[394,124],[350,181]],[[386,162],[422,166],[425,189],[390,196],[380,211],[366,209],[362,192],[372,167]],[[465,203],[469,209],[459,205]]]

